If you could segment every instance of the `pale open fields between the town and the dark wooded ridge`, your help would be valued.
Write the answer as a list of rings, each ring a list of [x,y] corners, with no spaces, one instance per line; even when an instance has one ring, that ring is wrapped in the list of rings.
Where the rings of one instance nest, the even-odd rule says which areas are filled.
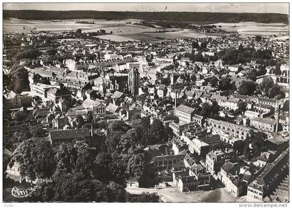
[[[78,20],[78,19],[76,19]],[[31,31],[49,31],[61,33],[63,31],[76,31],[82,29],[82,32],[92,32],[104,29],[112,35],[102,35],[99,38],[113,40],[117,42],[129,40],[159,41],[162,39],[175,38],[218,38],[222,34],[200,33],[190,29],[163,29],[136,25],[133,23],[141,22],[141,19],[109,20],[105,19],[82,19],[84,22],[94,22],[95,24],[79,24],[76,20],[63,20],[62,22],[51,22],[49,20],[24,20],[24,19],[4,19],[3,33],[31,33]],[[245,35],[274,35],[284,36],[289,34],[289,25],[284,23],[257,23],[257,22],[239,22],[239,23],[218,23],[225,31],[238,32],[240,36]],[[158,30],[167,32],[159,33]]]

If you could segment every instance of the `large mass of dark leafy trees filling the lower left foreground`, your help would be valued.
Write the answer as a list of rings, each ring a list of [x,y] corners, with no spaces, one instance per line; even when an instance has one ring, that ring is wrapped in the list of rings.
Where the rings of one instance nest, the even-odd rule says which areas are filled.
[[[151,157],[143,150],[142,137],[147,131],[157,140],[165,141],[168,130],[161,125],[160,120],[150,125],[146,119],[139,129],[131,129],[124,122],[105,126],[100,123],[100,127],[108,129],[108,134],[99,148],[90,147],[86,141],[51,146],[31,139],[46,135],[42,125],[23,125],[22,131],[12,138],[19,144],[13,160],[19,163],[24,177],[44,179],[37,184],[33,200],[124,201],[127,200],[124,191],[127,178],[136,177],[140,186],[154,186],[159,182],[150,163]],[[139,200],[156,202],[159,197],[145,193]]]

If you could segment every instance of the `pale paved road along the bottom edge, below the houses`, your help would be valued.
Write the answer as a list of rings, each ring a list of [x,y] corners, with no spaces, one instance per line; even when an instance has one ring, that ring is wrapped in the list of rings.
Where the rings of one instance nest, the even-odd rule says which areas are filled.
[[[143,192],[158,193],[162,196],[161,199],[163,201],[168,202],[234,202],[236,200],[223,188],[195,193],[179,193],[173,187],[165,189],[127,188],[126,191],[132,194]]]

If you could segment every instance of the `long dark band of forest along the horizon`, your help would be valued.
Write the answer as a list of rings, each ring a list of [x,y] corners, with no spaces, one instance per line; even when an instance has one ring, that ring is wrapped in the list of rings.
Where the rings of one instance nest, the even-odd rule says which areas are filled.
[[[143,8],[144,9],[144,8]],[[156,13],[152,8],[147,8],[152,12],[113,12],[113,11],[88,11],[83,13],[79,10],[53,11],[53,10],[3,10],[3,18],[18,19],[144,19],[145,21],[167,22],[177,21],[206,23],[206,22],[286,22],[288,15],[275,13],[184,13],[165,12]],[[174,21],[175,20],[175,21]]]

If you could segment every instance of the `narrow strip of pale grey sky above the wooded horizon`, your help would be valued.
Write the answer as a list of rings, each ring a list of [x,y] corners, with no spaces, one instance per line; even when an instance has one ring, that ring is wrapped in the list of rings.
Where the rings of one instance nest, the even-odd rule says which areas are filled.
[[[289,14],[289,3],[3,3],[3,9]]]

